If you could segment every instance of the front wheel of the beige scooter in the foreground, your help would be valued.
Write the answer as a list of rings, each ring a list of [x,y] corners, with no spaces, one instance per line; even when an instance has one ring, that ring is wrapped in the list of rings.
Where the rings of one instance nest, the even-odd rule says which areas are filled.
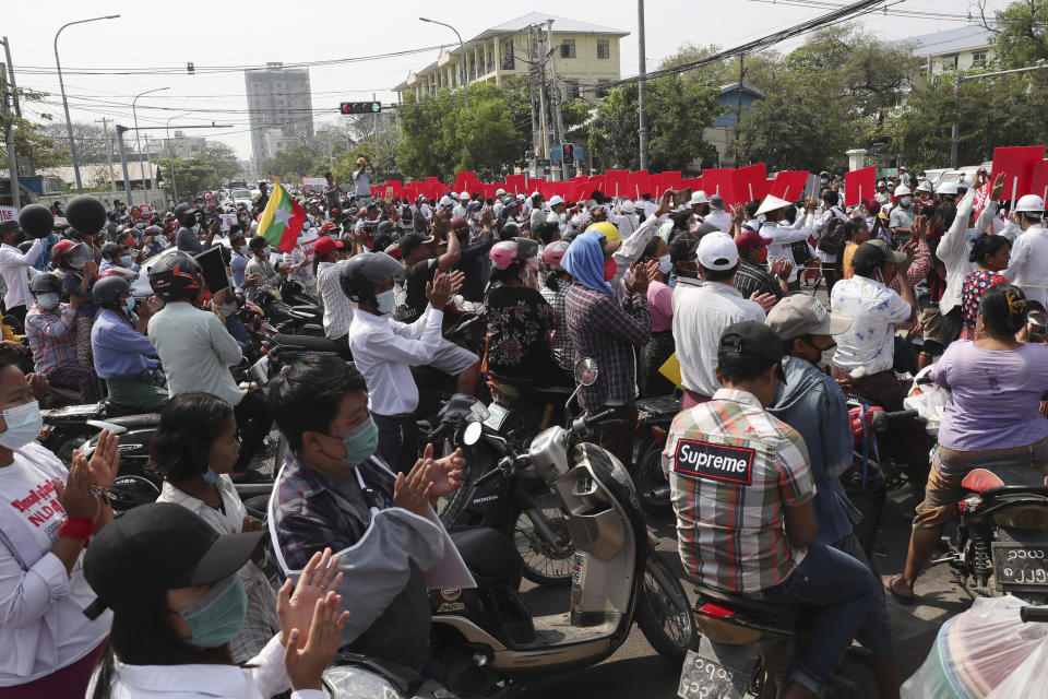
[[[688,595],[655,552],[647,555],[641,584],[636,625],[656,653],[679,665],[689,649],[699,648],[699,627]]]

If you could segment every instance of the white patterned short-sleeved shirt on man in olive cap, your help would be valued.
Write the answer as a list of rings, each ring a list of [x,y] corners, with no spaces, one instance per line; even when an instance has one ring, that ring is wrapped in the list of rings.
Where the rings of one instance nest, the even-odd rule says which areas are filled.
[[[909,304],[880,282],[856,275],[833,286],[830,307],[851,319],[848,330],[834,335],[833,364],[856,378],[891,369],[895,325],[909,320]]]

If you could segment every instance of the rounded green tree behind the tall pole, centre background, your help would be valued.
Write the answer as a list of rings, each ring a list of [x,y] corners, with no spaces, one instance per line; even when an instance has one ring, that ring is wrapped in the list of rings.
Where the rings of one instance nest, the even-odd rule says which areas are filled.
[[[679,75],[648,81],[645,108],[651,170],[687,169],[694,159],[714,153],[703,130],[723,111],[719,94],[710,83]],[[600,100],[590,129],[590,150],[605,167],[640,167],[636,115],[636,83],[614,87]]]

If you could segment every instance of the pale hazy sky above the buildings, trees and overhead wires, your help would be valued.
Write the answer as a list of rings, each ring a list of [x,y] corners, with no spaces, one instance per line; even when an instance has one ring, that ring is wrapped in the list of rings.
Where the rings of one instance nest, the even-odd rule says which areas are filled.
[[[787,4],[788,2],[788,4]],[[813,4],[814,3],[814,4]],[[734,47],[825,13],[829,3],[844,0],[647,0],[647,67],[655,69],[684,44]],[[1001,8],[1007,0],[990,0]],[[818,7],[815,7],[818,5]],[[450,12],[454,9],[455,14]],[[897,39],[965,25],[969,4],[956,0],[906,0],[889,14],[862,17],[868,29]],[[970,3],[977,11],[976,3]],[[636,2],[634,0],[525,0],[495,4],[455,0],[394,2],[201,2],[181,0],[52,0],[43,5],[7,2],[0,25],[11,43],[20,87],[53,93],[44,104],[25,105],[33,117],[62,114],[52,40],[66,22],[104,14],[106,20],[68,27],[59,40],[66,92],[74,121],[117,119],[131,126],[131,100],[143,91],[168,90],[138,102],[140,126],[228,123],[224,130],[195,129],[194,135],[217,138],[250,156],[250,134],[242,68],[266,61],[323,61],[434,47],[455,42],[442,26],[425,24],[419,15],[449,22],[464,39],[485,28],[532,11],[612,26],[630,32],[621,44],[623,76],[638,71]],[[920,19],[900,13],[930,13]],[[556,27],[556,24],[555,24]],[[788,50],[799,43],[779,45]],[[343,100],[395,102],[391,88],[409,69],[434,60],[437,50],[397,58],[310,68],[314,122],[334,121]],[[186,63],[198,68],[186,73]],[[229,69],[206,73],[211,68]],[[91,69],[130,69],[139,74],[78,74]],[[143,73],[142,71],[154,71]],[[323,110],[320,114],[320,110]],[[189,112],[189,114],[183,114]],[[155,133],[163,138],[163,131]]]

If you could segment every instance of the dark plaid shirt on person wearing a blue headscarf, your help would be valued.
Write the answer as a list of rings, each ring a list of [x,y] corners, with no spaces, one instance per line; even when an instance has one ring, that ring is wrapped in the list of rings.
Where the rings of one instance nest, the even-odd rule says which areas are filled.
[[[605,405],[633,405],[636,399],[634,346],[652,336],[652,317],[646,294],[629,294],[621,301],[572,284],[564,297],[568,332],[575,357],[597,362],[597,381],[583,387],[579,402],[594,410]]]

